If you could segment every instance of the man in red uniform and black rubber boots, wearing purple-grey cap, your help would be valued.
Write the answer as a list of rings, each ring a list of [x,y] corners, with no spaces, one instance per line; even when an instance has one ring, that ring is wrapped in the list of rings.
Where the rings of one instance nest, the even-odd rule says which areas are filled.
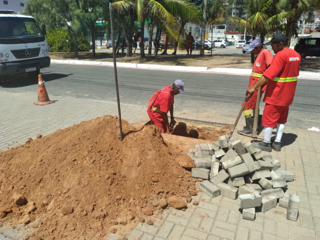
[[[272,61],[272,54],[269,50],[267,49],[262,49],[262,44],[260,39],[254,39],[250,45],[249,49],[247,52],[252,52],[254,55],[258,55],[256,57],[256,60],[253,63],[253,68],[251,72],[251,76],[249,78],[249,88],[252,87],[256,82],[258,82],[259,78],[262,76],[262,73],[269,67]],[[266,91],[266,85],[264,84],[261,87],[261,94],[260,94],[260,99],[262,94]],[[250,109],[253,110],[253,115],[255,114],[255,108],[256,108],[256,101],[257,101],[257,95],[258,91],[255,90],[253,92],[253,95],[247,103],[245,104],[243,114],[245,117],[245,127],[243,130],[238,131],[238,133],[242,134],[249,134],[252,133],[252,128],[253,128],[253,120],[254,118],[251,117],[251,111]],[[242,103],[244,104],[244,102]],[[258,113],[259,114],[259,113]]]

